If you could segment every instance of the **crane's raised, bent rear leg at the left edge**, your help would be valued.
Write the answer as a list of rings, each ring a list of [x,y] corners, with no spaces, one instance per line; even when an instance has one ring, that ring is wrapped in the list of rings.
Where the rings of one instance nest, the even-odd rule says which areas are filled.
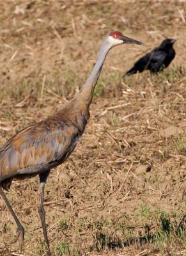
[[[24,228],[20,224],[20,221],[18,220],[15,212],[13,211],[12,206],[8,202],[8,199],[7,199],[6,195],[4,194],[4,191],[1,188],[1,186],[0,186],[0,195],[3,197],[3,200],[4,200],[5,204],[6,204],[6,206],[8,207],[9,211],[11,212],[12,217],[15,220],[15,223],[17,225],[17,235],[13,239],[12,243],[15,243],[17,241],[17,239],[19,239],[19,250],[21,251],[22,250],[23,241],[24,241]]]

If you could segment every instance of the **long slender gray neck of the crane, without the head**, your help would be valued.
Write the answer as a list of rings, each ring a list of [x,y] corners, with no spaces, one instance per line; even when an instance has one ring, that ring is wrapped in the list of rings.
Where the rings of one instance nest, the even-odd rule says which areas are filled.
[[[86,106],[89,108],[91,104],[91,100],[93,98],[93,92],[95,90],[95,86],[97,84],[98,78],[100,76],[100,72],[102,71],[102,67],[104,65],[105,58],[107,53],[111,49],[111,45],[108,44],[107,40],[104,41],[102,46],[100,47],[100,51],[98,52],[97,62],[90,76],[88,77],[86,83],[82,86],[81,90],[75,96],[75,99],[84,102]]]

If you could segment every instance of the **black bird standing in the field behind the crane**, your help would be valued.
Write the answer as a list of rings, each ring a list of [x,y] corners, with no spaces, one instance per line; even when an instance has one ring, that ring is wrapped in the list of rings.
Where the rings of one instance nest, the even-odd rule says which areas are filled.
[[[168,67],[176,54],[173,49],[174,42],[176,42],[175,39],[165,39],[159,47],[156,47],[136,61],[134,66],[130,68],[123,77],[131,76],[137,72],[141,73],[147,69],[150,70],[151,73],[156,73]]]

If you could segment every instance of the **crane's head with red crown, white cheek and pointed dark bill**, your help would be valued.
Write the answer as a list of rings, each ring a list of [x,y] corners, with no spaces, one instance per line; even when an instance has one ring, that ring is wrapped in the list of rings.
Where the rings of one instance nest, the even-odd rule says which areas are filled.
[[[109,33],[108,40],[112,46],[119,44],[143,44],[142,42],[139,42],[127,36],[123,36],[122,33],[120,33],[119,31],[112,31],[111,33]]]

